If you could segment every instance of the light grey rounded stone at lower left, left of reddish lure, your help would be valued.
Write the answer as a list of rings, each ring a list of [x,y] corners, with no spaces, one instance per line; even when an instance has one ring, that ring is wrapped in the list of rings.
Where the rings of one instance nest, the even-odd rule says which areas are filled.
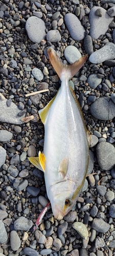
[[[21,216],[17,220],[14,221],[14,229],[15,230],[24,230],[27,231],[33,226],[33,222],[28,220],[27,218]]]

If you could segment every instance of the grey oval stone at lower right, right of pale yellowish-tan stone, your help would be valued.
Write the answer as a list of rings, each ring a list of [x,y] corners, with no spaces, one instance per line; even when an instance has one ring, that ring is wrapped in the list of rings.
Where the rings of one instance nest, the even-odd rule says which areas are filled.
[[[93,220],[91,227],[94,228],[98,232],[105,233],[109,230],[110,225],[102,219],[95,218]]]

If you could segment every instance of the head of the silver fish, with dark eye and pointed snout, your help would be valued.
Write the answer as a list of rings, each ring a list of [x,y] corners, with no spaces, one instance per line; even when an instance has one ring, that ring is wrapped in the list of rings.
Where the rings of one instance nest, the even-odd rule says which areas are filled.
[[[72,209],[80,191],[79,187],[76,188],[76,183],[71,180],[56,183],[50,188],[48,197],[57,220],[62,220]]]

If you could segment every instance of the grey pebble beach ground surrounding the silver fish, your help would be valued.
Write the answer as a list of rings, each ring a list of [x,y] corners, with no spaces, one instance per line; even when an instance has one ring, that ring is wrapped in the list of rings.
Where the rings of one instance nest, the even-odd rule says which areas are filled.
[[[115,0],[0,1],[0,256],[115,255],[114,16]],[[49,47],[67,64],[88,54],[70,84],[92,140],[76,205],[61,221],[50,207],[33,232],[48,197],[28,157],[43,151],[38,110],[60,87]]]

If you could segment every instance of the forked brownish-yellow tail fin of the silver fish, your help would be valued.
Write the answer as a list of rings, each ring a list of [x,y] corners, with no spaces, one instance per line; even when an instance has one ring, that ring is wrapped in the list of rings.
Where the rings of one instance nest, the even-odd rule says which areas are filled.
[[[63,72],[67,73],[68,80],[72,79],[72,77],[79,71],[79,69],[81,69],[86,59],[88,58],[88,54],[86,54],[82,56],[79,60],[75,61],[73,64],[64,65],[53,49],[48,49],[48,55],[52,66],[54,67],[56,73],[61,80]]]

